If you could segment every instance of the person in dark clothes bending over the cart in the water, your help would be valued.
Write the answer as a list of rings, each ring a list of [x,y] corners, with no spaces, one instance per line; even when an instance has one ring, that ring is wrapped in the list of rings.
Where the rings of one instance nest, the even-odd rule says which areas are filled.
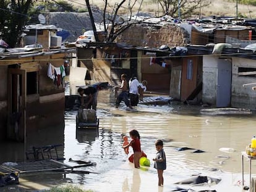
[[[81,106],[85,109],[94,109],[96,111],[97,107],[97,96],[98,91],[94,86],[85,86],[85,88],[79,88],[77,92],[81,96]],[[88,101],[85,102],[85,98],[83,96],[85,94],[88,96]]]

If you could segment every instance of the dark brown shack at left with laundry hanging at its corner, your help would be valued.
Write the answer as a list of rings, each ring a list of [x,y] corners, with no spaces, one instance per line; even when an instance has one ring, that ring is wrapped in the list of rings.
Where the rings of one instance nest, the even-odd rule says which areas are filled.
[[[75,49],[15,50],[0,54],[0,140],[23,141],[30,129],[64,123],[65,75],[56,70]]]

